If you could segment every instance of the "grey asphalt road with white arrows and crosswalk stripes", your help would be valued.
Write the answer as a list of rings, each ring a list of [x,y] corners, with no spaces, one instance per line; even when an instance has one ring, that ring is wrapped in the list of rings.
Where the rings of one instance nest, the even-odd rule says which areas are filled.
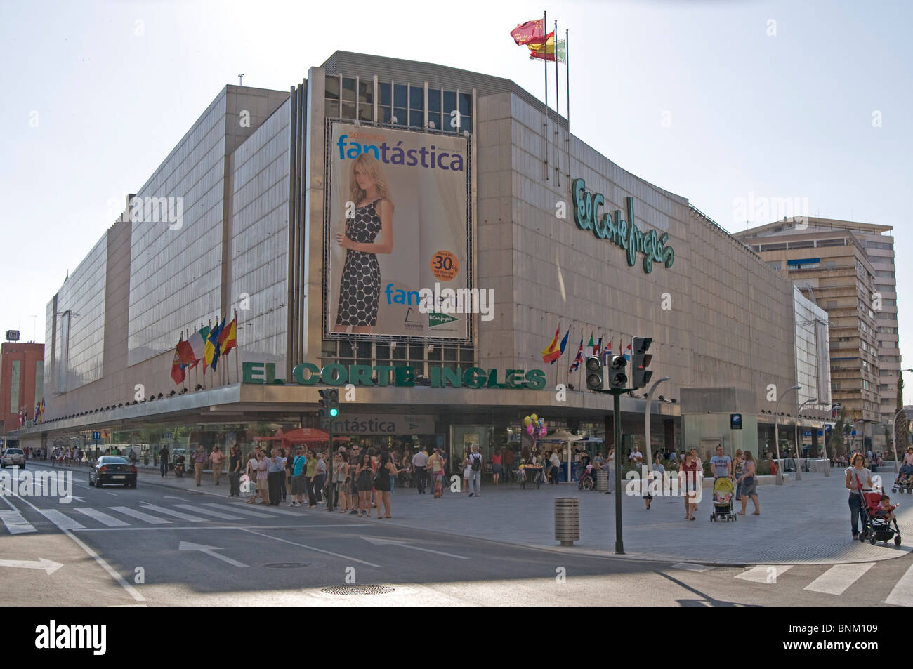
[[[7,605],[913,604],[909,555],[745,568],[588,557],[376,517],[244,504],[226,497],[227,480],[221,494],[157,486],[149,474],[135,489],[97,489],[85,467],[71,471],[69,504],[0,497]],[[369,585],[392,591],[324,591]]]

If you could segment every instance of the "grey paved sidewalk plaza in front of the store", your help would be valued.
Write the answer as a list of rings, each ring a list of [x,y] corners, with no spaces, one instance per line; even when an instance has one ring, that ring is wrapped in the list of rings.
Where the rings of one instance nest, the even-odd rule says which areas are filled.
[[[161,478],[151,468],[141,468],[141,485],[165,485],[197,490],[193,476]],[[520,489],[514,484],[483,487],[482,497],[446,492],[434,499],[419,495],[415,488],[396,488],[392,498],[393,518],[378,524],[426,529],[446,534],[485,538],[558,552],[577,552],[625,559],[650,559],[706,564],[831,564],[871,562],[899,558],[913,550],[913,497],[891,494],[893,474],[884,475],[884,485],[897,508],[897,525],[903,545],[878,543],[872,546],[850,537],[848,491],[843,470],[832,475],[803,473],[803,480],[785,486],[759,486],[761,516],[746,515],[737,522],[711,523],[712,498],[707,488],[695,514],[688,522],[682,497],[656,497],[649,511],[641,497],[622,500],[624,556],[616,556],[615,496],[578,491],[575,484]],[[212,475],[203,477],[208,493],[228,496],[228,479],[222,476],[215,488]],[[580,499],[580,541],[560,547],[554,540],[554,498]],[[740,503],[736,502],[736,510]],[[302,511],[304,515],[306,511]],[[311,512],[313,513],[313,512]],[[326,513],[322,509],[318,513]],[[342,516],[337,517],[352,517]],[[376,511],[374,511],[374,518]]]

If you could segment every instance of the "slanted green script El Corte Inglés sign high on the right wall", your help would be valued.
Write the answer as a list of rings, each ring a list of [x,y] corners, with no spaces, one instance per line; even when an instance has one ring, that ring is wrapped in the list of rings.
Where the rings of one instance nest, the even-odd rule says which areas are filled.
[[[627,251],[627,260],[630,267],[634,267],[636,254],[644,254],[644,271],[649,274],[653,271],[653,263],[663,263],[672,267],[676,254],[672,246],[665,246],[669,238],[668,233],[661,236],[656,230],[642,233],[634,223],[634,198],[627,197],[627,220],[622,218],[620,210],[612,214],[606,212],[602,220],[599,218],[599,207],[605,202],[602,193],[590,193],[586,190],[586,182],[574,179],[571,191],[573,194],[573,220],[581,230],[592,230],[593,235],[600,239],[607,239]]]

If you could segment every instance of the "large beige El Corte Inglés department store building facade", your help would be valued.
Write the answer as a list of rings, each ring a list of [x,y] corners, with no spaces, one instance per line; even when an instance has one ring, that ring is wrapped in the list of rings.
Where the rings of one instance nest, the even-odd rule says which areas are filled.
[[[317,388],[334,385],[336,432],[358,444],[488,458],[519,449],[537,413],[604,455],[611,398],[582,390],[572,361],[635,335],[669,377],[650,404],[654,452],[691,445],[684,389],[750,389],[751,416],[772,409],[771,384],[795,384],[792,285],[509,79],[336,52],[290,93],[226,87],[138,193],[208,214],[185,204],[168,235],[119,220],[48,303],[46,420],[26,439],[101,428],[143,452],[247,449],[319,427]],[[89,303],[99,319],[72,316]],[[235,313],[235,360],[175,384],[179,337]],[[85,343],[69,340],[78,327],[94,329]],[[543,362],[556,328],[563,355]],[[644,450],[645,390],[622,400],[628,450]]]

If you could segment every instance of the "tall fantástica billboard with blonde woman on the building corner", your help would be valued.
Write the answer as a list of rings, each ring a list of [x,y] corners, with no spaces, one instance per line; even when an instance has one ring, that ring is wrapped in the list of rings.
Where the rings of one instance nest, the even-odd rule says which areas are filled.
[[[335,121],[327,152],[326,339],[470,340],[467,138]]]

